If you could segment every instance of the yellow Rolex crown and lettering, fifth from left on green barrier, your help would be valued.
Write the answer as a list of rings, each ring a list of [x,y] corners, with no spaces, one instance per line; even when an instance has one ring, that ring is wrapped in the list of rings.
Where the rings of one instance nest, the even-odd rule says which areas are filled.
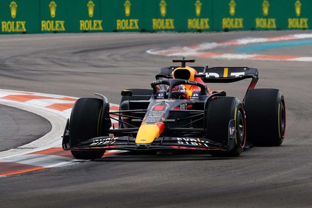
[[[167,14],[167,3],[164,0],[161,0],[159,3],[160,15],[165,17]],[[154,30],[161,30],[161,29],[174,29],[174,19],[152,19],[153,22],[153,29]]]

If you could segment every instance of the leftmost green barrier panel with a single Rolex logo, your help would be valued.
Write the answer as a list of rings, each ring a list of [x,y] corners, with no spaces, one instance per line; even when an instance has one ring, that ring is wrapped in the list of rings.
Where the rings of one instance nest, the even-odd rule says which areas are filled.
[[[39,32],[39,0],[1,0],[0,3],[0,34]]]

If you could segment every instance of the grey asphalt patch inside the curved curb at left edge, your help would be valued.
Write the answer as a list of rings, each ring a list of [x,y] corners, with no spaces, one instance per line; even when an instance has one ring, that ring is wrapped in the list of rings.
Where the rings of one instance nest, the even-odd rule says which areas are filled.
[[[37,114],[0,105],[0,152],[31,143],[51,128],[51,123]]]

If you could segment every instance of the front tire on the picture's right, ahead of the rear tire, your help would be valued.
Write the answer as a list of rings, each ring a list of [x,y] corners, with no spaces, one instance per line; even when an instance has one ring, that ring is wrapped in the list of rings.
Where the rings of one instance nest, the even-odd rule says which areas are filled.
[[[235,146],[229,152],[212,152],[214,157],[236,157],[246,142],[246,121],[241,101],[234,97],[217,97],[208,103],[206,138],[218,143],[228,143],[229,122],[235,120]]]

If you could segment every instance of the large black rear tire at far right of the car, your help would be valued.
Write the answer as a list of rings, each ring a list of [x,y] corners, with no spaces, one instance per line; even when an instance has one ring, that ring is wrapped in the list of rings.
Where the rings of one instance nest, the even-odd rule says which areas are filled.
[[[280,90],[248,90],[244,109],[248,142],[258,146],[281,145],[286,130],[286,109]]]

